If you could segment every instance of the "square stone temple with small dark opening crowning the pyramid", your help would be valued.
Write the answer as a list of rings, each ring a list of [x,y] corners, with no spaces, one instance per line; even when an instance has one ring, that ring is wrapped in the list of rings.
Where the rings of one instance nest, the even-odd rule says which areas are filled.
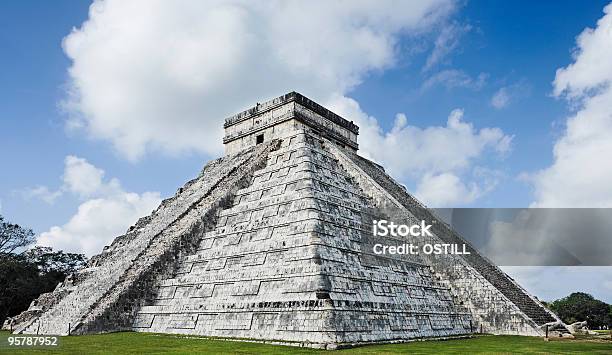
[[[359,127],[356,124],[292,91],[226,118],[225,154],[284,138],[296,125],[304,125],[343,148],[357,151]]]

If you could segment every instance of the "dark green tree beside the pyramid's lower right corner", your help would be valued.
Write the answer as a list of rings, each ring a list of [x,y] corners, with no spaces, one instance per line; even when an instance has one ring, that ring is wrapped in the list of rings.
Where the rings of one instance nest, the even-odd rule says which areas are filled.
[[[574,292],[550,303],[550,309],[567,324],[586,320],[591,329],[612,326],[610,305],[588,293]]]

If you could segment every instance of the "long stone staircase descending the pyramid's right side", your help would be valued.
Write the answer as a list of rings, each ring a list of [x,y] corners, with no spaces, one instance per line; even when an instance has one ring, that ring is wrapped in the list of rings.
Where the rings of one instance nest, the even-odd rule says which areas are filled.
[[[432,224],[435,236],[432,242],[467,246],[469,255],[430,255],[424,257],[424,262],[449,285],[456,301],[470,309],[475,327],[480,330],[482,325],[484,331],[496,334],[543,335],[539,325],[559,321],[556,315],[480,255],[378,165],[352,152],[336,147],[331,149],[343,164],[351,167],[360,186],[379,204],[386,200],[394,211],[401,211],[404,219],[425,220]]]

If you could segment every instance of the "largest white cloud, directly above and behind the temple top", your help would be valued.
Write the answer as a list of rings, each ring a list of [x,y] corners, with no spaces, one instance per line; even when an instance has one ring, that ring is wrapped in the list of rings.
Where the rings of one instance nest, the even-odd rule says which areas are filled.
[[[95,1],[63,42],[67,127],[131,160],[220,154],[224,117],[291,90],[345,95],[396,63],[401,36],[453,10],[450,0]]]

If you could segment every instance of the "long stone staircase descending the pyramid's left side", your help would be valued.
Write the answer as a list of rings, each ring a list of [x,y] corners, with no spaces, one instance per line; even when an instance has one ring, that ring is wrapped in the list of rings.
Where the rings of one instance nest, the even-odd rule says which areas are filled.
[[[37,318],[18,324],[15,333],[65,335],[129,329],[138,300],[150,292],[149,283],[172,272],[181,251],[190,247],[188,239],[202,233],[208,222],[203,219],[214,217],[227,194],[265,162],[277,144],[269,142],[207,164],[198,178],[92,258],[74,276],[73,284],[56,289],[62,292],[61,299]]]

